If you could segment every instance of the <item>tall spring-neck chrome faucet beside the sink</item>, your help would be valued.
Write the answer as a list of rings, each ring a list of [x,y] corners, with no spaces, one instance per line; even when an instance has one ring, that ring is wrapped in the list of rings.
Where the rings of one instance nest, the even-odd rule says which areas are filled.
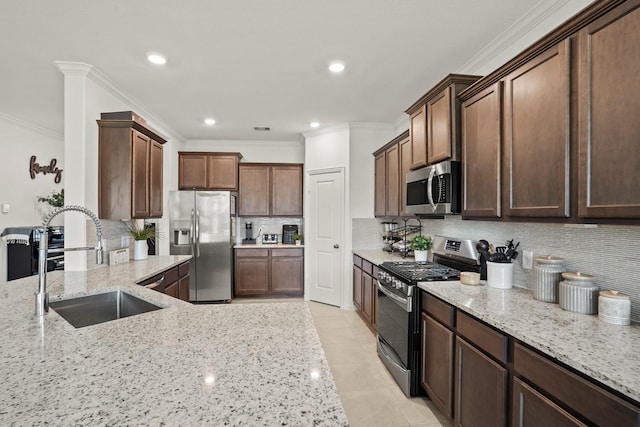
[[[81,248],[60,248],[49,249],[49,223],[62,212],[75,211],[87,215],[96,225],[96,246],[85,246]],[[47,254],[66,251],[96,251],[96,264],[102,264],[102,224],[100,220],[89,209],[82,206],[63,206],[51,212],[42,223],[44,230],[40,234],[40,246],[38,247],[38,293],[36,293],[36,316],[42,316],[49,311],[49,294],[47,293]]]

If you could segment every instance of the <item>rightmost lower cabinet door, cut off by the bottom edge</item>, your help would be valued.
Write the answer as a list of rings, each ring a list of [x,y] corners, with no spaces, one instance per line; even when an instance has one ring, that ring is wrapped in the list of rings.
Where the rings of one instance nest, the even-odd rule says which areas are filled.
[[[513,379],[514,426],[586,426],[567,411],[529,387],[518,378]]]

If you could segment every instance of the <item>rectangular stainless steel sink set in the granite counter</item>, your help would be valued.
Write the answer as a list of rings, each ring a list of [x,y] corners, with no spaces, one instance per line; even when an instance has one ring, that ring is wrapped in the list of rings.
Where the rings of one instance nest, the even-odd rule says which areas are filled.
[[[49,307],[76,328],[162,308],[120,290],[54,301]]]

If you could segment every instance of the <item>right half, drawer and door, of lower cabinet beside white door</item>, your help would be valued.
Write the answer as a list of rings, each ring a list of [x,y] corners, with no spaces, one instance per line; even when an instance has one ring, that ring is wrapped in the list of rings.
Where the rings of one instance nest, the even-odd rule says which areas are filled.
[[[301,295],[304,291],[302,249],[271,250],[271,292]]]

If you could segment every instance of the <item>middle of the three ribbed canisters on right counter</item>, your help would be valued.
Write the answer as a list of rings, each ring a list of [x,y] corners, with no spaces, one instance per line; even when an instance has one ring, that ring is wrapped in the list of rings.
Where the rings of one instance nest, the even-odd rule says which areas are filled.
[[[596,314],[598,311],[598,291],[593,276],[584,273],[562,273],[564,279],[559,284],[558,302],[560,308],[582,314]]]

